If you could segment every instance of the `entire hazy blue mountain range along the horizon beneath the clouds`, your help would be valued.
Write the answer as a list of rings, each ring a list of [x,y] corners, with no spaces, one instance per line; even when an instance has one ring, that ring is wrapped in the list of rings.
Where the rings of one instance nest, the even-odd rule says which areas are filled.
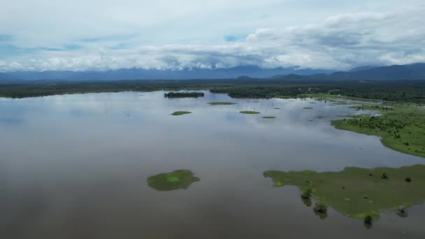
[[[157,70],[129,68],[111,71],[16,71],[0,73],[0,82],[33,80],[185,80],[231,78],[291,78],[322,80],[425,80],[425,63],[362,66],[351,71],[309,68],[259,68],[238,66],[215,69]]]

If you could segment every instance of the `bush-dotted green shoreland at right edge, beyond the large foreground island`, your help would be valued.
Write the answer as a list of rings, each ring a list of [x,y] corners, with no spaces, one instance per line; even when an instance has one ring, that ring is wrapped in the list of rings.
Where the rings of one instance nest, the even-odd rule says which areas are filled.
[[[379,110],[382,115],[345,115],[349,119],[331,121],[336,129],[380,136],[384,146],[425,157],[425,111],[414,107],[354,106]]]

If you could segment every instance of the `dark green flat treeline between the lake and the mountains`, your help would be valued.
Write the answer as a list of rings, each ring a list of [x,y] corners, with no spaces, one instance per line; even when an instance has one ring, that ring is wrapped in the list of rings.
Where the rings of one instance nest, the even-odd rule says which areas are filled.
[[[233,98],[295,98],[305,94],[333,94],[363,99],[409,103],[425,103],[425,80],[393,81],[329,81],[279,79],[229,80],[122,80],[122,81],[37,81],[0,84],[0,96],[24,98],[52,94],[92,92],[152,92],[157,90],[210,89],[213,93],[229,94]],[[196,92],[170,92],[192,97]],[[199,97],[198,96],[198,97]],[[167,96],[166,96],[167,97]],[[169,96],[168,96],[169,97]],[[180,97],[180,96],[178,96]]]

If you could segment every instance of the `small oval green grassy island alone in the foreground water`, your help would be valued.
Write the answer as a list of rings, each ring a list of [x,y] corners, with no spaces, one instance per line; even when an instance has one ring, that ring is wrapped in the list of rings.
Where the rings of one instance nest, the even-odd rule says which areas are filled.
[[[159,173],[147,178],[147,184],[152,189],[158,191],[172,191],[177,189],[187,189],[193,182],[200,179],[194,177],[192,171],[183,169],[171,173]]]

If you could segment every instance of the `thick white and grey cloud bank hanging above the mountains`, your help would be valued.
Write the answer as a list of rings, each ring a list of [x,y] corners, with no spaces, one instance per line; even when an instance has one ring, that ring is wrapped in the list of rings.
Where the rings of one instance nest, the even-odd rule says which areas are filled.
[[[239,3],[239,1],[233,3],[235,2]],[[220,6],[218,9],[223,9],[227,3],[220,1],[220,4],[224,5],[217,5]],[[258,5],[254,1],[249,1],[248,6],[244,7],[251,6],[261,10],[268,6],[267,4],[276,4],[276,1],[266,1],[264,4]],[[195,4],[193,9],[185,10],[178,15],[171,13],[165,18],[173,20],[180,15],[191,15],[198,8],[201,6]],[[422,17],[425,12],[424,6],[417,5],[398,10],[354,10],[350,13],[336,13],[322,20],[282,27],[280,24],[273,24],[275,20],[273,10],[266,12],[270,12],[266,17],[268,21],[266,25],[273,27],[256,27],[251,29],[251,33],[246,27],[241,27],[236,32],[247,34],[229,34],[224,31],[218,38],[212,37],[213,41],[208,41],[209,38],[196,41],[196,37],[192,35],[187,35],[190,36],[187,40],[174,37],[173,42],[185,42],[179,44],[162,43],[166,40],[147,43],[149,41],[146,39],[156,38],[155,34],[161,31],[161,24],[146,31],[150,32],[149,36],[143,32],[129,33],[113,29],[112,35],[78,36],[71,43],[59,38],[60,41],[57,41],[62,44],[47,47],[22,47],[19,45],[20,41],[15,41],[15,37],[5,37],[3,41],[8,41],[8,45],[3,43],[2,48],[3,35],[0,35],[0,51],[6,49],[5,45],[8,48],[7,57],[0,58],[0,71],[80,71],[133,67],[229,68],[243,65],[345,70],[363,65],[410,64],[425,61],[425,18]],[[118,18],[120,21],[133,24],[131,19],[136,17],[134,14],[130,12],[128,16],[120,15]],[[256,13],[252,19],[261,22],[264,17],[259,16],[265,14]],[[205,15],[208,15],[208,12]],[[195,20],[187,24],[197,23]],[[250,26],[257,26],[256,24]],[[145,23],[142,25],[145,26]],[[217,23],[210,26],[212,27],[210,29],[214,29]],[[235,32],[234,28],[235,26],[231,31]],[[173,33],[172,27],[167,26],[166,29],[171,31],[167,36],[178,35]],[[202,29],[193,31],[195,34],[203,32]],[[212,32],[219,31],[215,29]],[[208,34],[206,36],[209,37]]]

